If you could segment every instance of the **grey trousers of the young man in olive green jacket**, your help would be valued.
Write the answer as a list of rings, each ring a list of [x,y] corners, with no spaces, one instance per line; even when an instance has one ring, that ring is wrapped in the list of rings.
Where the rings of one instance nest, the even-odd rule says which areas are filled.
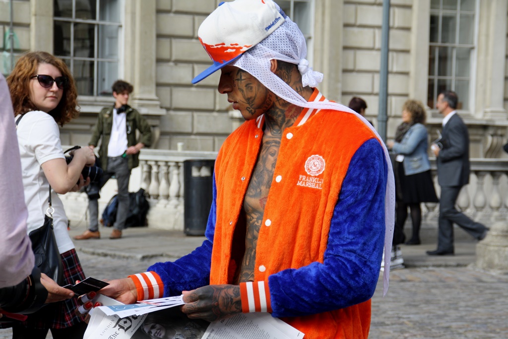
[[[102,188],[106,182],[112,177],[116,177],[118,183],[118,210],[116,212],[116,221],[113,228],[123,230],[125,228],[125,219],[129,209],[129,179],[131,171],[129,170],[129,162],[127,158],[108,157],[108,168],[104,171],[101,178],[100,187]],[[99,230],[99,201],[98,199],[88,200],[88,213],[90,214],[90,231]]]

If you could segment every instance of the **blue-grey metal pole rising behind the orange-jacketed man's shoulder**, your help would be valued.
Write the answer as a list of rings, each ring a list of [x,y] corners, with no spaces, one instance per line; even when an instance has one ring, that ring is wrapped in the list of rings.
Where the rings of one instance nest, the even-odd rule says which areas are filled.
[[[383,26],[381,28],[381,68],[379,70],[379,112],[377,133],[386,142],[388,121],[388,50],[390,32],[390,0],[383,0]]]

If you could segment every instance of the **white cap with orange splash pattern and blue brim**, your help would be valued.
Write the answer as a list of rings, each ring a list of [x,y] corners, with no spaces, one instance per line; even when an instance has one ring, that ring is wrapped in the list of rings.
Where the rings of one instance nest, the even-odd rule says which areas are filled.
[[[274,32],[285,14],[272,0],[235,0],[220,3],[201,24],[198,37],[213,65],[192,80],[198,83],[237,60]]]

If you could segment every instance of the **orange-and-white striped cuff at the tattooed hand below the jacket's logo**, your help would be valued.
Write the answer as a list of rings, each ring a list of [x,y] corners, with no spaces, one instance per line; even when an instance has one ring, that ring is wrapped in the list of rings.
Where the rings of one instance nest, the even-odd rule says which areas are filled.
[[[272,312],[268,281],[240,283],[240,297],[243,313]]]

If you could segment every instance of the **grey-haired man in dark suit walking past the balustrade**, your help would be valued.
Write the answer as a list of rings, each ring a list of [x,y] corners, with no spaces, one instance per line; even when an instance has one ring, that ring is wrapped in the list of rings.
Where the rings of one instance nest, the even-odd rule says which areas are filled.
[[[447,90],[437,97],[436,108],[443,118],[441,146],[432,145],[437,159],[437,180],[441,186],[439,199],[439,235],[437,250],[428,255],[453,255],[453,224],[462,227],[475,239],[482,240],[488,228],[474,222],[455,208],[462,186],[469,183],[469,134],[462,118],[455,110],[458,97]]]

